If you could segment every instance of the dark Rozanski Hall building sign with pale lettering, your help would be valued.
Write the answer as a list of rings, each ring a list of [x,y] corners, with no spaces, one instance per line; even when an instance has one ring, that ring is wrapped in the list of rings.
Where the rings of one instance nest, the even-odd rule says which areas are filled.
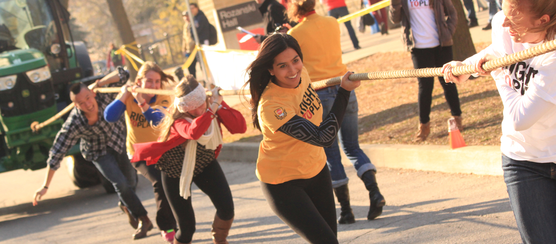
[[[222,32],[232,31],[238,26],[245,27],[262,22],[259,5],[255,1],[222,8],[216,13]]]

